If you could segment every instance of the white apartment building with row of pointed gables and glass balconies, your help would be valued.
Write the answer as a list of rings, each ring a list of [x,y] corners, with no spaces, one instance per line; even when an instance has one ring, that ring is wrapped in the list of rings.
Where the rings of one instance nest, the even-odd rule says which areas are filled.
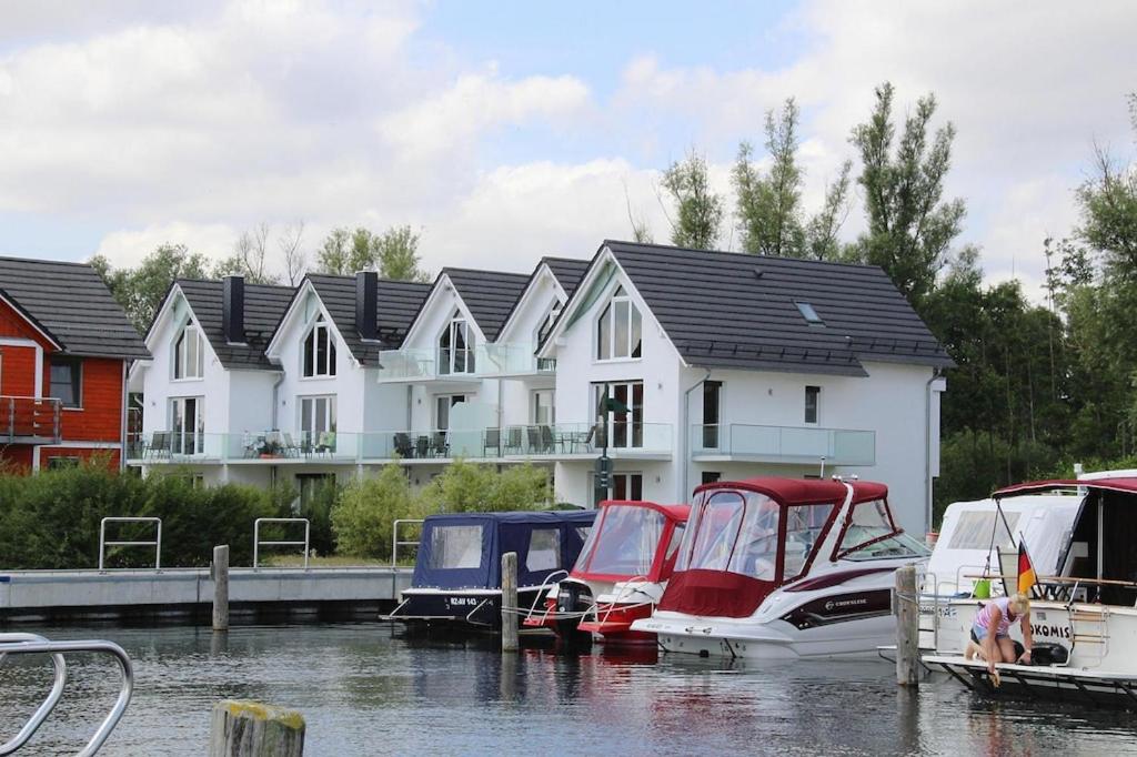
[[[857,474],[914,531],[951,365],[880,268],[613,241],[591,261],[429,285],[180,281],[147,347],[128,460],[144,469],[302,490],[392,461],[418,485],[457,458],[529,461],[588,506],[606,448],[609,497]]]

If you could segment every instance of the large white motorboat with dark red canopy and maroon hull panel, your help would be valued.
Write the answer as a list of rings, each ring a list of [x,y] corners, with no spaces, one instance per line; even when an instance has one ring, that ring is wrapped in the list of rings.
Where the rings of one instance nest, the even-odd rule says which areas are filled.
[[[893,573],[929,555],[887,498],[883,484],[840,479],[699,486],[675,573],[632,631],[702,656],[875,654],[895,639]]]

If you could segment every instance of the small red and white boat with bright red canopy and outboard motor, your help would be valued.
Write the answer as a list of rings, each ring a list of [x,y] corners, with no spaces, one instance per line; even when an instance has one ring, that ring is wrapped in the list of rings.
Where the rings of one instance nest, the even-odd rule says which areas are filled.
[[[631,630],[650,617],[675,567],[688,505],[600,502],[576,564],[525,618],[566,639],[597,634],[608,643],[655,642]]]

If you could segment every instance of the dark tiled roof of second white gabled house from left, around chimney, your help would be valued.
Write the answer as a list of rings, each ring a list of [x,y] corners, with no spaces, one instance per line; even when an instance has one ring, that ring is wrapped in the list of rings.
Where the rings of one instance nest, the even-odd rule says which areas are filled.
[[[402,338],[431,290],[430,284],[380,278],[376,307],[379,342],[368,342],[359,338],[355,323],[356,277],[308,274],[308,281],[319,294],[351,355],[362,365],[379,365],[380,350],[397,349],[402,344]]]

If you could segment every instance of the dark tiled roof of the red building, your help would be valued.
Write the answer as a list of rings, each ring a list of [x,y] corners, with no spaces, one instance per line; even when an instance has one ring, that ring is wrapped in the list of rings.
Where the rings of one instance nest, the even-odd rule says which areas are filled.
[[[0,258],[0,289],[72,355],[150,357],[123,308],[85,263]]]

